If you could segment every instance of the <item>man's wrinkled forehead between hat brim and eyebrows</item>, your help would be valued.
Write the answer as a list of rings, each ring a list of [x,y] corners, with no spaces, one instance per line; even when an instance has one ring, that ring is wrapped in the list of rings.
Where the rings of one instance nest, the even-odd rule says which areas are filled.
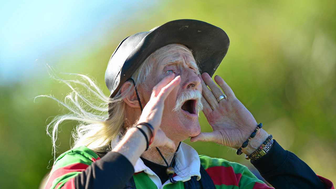
[[[152,55],[154,62],[159,67],[173,62],[185,62],[197,68],[192,51],[182,44],[166,45],[156,50]]]

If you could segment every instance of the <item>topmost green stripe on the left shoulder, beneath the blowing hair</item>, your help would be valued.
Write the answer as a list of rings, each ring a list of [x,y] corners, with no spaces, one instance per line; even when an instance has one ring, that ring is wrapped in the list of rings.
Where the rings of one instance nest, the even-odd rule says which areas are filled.
[[[98,155],[94,153],[91,149],[86,146],[80,146],[62,153],[55,161],[52,168],[55,171],[58,168],[73,164],[73,163],[84,163],[91,165],[92,157],[97,159]]]

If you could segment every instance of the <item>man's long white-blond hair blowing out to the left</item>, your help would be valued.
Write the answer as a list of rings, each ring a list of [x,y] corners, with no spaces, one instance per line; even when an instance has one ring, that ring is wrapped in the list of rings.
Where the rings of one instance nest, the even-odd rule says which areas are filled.
[[[176,44],[166,45],[156,50],[132,75],[137,88],[146,89],[145,80],[152,71],[155,55],[167,50],[167,48],[184,49],[192,52],[190,49]],[[50,70],[52,69],[50,68]],[[91,149],[97,148],[110,143],[115,137],[123,135],[126,112],[126,104],[123,98],[129,96],[134,89],[134,86],[130,85],[122,94],[119,90],[117,95],[111,99],[109,96],[104,95],[97,84],[88,76],[83,74],[70,75],[75,75],[79,79],[64,80],[56,77],[53,72],[50,74],[53,79],[66,84],[71,89],[71,92],[63,101],[58,100],[52,95],[38,96],[53,99],[70,111],[68,114],[56,116],[47,125],[47,134],[52,139],[54,158],[57,152],[58,127],[63,121],[74,120],[79,123],[72,132],[74,139],[72,148],[79,146],[86,146]],[[79,90],[75,86],[80,86],[85,90]],[[109,110],[110,114],[108,113]]]

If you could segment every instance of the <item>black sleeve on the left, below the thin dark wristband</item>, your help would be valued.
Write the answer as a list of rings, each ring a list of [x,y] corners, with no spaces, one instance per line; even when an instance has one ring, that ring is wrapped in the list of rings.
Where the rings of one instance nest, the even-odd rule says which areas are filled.
[[[129,160],[118,152],[108,152],[75,177],[76,189],[124,188],[134,174]]]

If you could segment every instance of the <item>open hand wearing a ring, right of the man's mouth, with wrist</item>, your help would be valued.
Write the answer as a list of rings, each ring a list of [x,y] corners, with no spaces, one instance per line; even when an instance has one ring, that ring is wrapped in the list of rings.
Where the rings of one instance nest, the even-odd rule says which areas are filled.
[[[199,77],[203,88],[203,113],[213,131],[210,133],[200,133],[198,136],[192,137],[191,141],[211,141],[238,149],[257,127],[256,120],[250,111],[236,98],[232,89],[220,76],[216,75],[215,81],[221,89],[215,84],[208,73],[203,73]],[[223,91],[226,98],[217,102],[217,98],[224,95]],[[262,128],[259,129],[257,135],[242,151],[245,154],[252,153],[267,137],[268,134],[266,131]]]

